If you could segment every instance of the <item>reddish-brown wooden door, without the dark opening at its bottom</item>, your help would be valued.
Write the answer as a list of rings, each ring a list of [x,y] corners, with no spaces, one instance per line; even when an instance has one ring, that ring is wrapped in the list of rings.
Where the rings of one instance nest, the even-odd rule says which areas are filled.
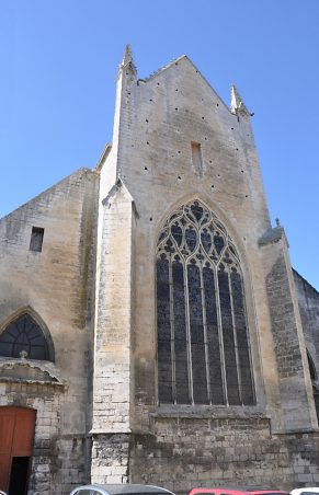
[[[0,407],[0,490],[8,491],[13,458],[31,458],[35,411]]]

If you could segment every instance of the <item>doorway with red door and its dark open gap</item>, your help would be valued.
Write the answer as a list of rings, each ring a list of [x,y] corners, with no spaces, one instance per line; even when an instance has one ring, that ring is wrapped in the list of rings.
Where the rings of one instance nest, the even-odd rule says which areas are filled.
[[[9,495],[27,491],[36,412],[0,407],[0,490]]]

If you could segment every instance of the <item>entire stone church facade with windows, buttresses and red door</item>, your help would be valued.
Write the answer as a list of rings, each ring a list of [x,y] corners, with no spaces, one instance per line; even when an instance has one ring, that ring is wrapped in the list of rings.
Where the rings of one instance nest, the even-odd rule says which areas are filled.
[[[127,47],[96,168],[0,219],[0,490],[318,485],[319,293],[250,117]]]

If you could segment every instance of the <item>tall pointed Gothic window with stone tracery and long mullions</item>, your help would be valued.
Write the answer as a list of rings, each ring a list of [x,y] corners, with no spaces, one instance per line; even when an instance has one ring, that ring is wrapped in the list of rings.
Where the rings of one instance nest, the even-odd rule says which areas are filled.
[[[202,203],[167,220],[157,246],[159,402],[254,403],[239,257]]]

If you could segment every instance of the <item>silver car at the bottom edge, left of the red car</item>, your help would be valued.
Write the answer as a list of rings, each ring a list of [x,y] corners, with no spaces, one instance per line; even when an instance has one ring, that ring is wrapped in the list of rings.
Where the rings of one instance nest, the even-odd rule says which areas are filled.
[[[118,484],[118,485],[82,485],[70,495],[174,495],[173,492],[153,485]]]

